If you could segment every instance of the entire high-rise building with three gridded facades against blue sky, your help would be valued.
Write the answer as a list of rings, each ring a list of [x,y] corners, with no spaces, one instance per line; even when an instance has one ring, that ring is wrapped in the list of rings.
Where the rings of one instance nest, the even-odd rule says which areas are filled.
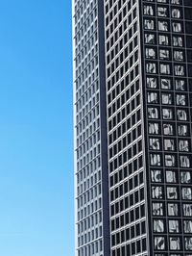
[[[73,29],[76,255],[192,256],[192,0],[74,0]]]

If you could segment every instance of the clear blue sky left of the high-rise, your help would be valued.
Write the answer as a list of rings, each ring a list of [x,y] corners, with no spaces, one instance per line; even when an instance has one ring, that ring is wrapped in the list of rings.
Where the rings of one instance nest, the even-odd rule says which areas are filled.
[[[0,1],[0,255],[73,255],[70,0]]]

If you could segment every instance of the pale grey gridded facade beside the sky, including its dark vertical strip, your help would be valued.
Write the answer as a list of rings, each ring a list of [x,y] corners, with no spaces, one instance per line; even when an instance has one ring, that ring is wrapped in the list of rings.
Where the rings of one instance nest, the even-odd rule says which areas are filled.
[[[77,256],[109,254],[103,10],[101,1],[73,1]]]

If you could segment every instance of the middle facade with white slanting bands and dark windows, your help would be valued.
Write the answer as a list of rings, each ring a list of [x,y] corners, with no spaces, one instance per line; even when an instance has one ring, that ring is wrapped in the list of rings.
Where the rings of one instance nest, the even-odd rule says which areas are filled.
[[[111,256],[147,255],[137,13],[105,1]]]

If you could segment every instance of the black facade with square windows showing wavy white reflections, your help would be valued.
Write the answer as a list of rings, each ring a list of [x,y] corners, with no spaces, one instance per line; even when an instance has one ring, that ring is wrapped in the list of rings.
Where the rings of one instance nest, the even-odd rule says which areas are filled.
[[[192,256],[192,1],[140,1],[150,255]]]

